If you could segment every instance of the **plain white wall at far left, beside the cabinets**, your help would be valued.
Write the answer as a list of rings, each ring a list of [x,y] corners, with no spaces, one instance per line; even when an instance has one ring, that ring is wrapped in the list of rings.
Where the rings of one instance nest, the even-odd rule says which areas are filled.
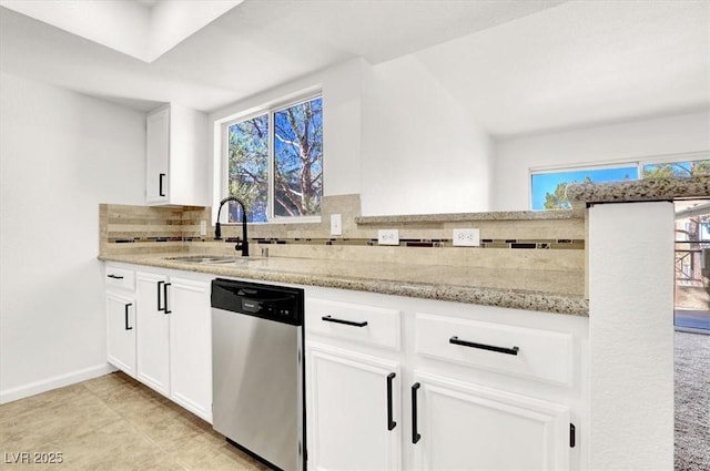
[[[0,74],[0,401],[106,371],[99,203],[143,204],[143,113]]]

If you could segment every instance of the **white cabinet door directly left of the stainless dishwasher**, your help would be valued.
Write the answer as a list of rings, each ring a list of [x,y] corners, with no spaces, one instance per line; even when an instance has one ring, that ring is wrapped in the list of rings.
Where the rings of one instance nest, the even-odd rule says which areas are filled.
[[[171,399],[212,422],[210,284],[170,279]]]

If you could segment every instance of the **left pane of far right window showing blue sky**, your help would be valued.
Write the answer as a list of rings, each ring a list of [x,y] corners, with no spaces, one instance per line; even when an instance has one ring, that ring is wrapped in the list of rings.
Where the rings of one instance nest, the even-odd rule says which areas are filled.
[[[566,168],[556,172],[540,172],[530,175],[532,209],[569,209],[567,185],[572,183],[602,183],[638,180],[638,164],[613,167]]]

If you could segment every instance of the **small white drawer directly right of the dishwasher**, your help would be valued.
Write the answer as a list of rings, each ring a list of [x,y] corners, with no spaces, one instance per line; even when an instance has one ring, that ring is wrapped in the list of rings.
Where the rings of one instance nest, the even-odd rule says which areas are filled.
[[[399,311],[396,309],[306,299],[306,330],[399,350]]]

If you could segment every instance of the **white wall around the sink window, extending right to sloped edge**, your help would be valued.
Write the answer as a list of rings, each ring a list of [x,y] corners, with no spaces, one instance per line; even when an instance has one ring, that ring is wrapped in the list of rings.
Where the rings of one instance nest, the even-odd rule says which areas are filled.
[[[323,92],[324,195],[359,193],[364,215],[488,211],[488,135],[415,54],[329,68],[219,110],[210,126],[312,90]]]

